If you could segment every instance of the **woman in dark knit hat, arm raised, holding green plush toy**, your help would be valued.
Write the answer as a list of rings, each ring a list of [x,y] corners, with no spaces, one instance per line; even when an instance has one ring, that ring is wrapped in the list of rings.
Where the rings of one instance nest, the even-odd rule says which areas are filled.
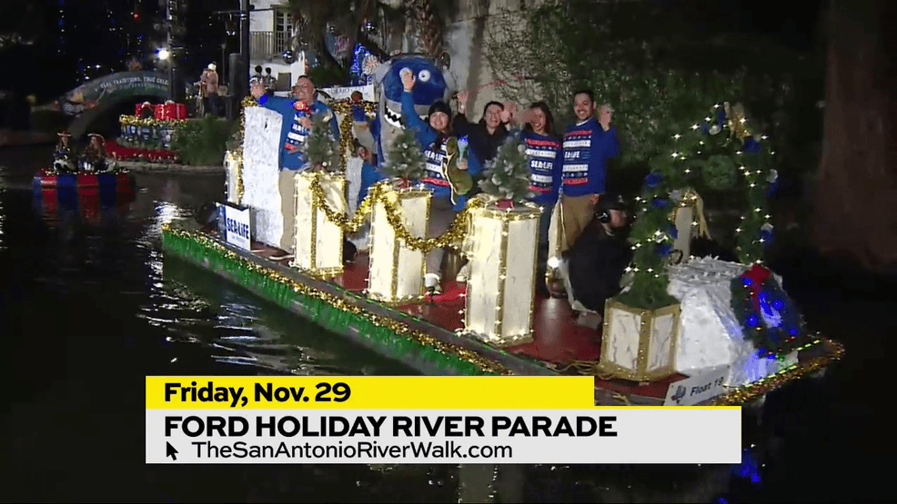
[[[425,123],[414,109],[414,99],[412,98],[416,83],[414,74],[410,71],[403,71],[401,77],[402,85],[405,88],[405,92],[402,94],[402,120],[414,132],[418,143],[423,146],[426,166],[424,178],[420,182],[433,192],[428,238],[436,238],[448,231],[452,222],[455,221],[455,215],[464,209],[467,198],[463,193],[469,191],[469,187],[467,190],[462,190],[463,193],[456,192],[457,187],[451,180],[454,168],[446,166],[447,163],[450,163],[450,159],[447,158],[447,145],[452,143],[453,139],[450,126],[451,108],[442,101],[430,105],[428,122]],[[455,140],[457,141],[457,139]],[[458,155],[457,152],[453,154]],[[476,154],[468,149],[468,159],[459,158],[457,169],[476,175],[482,168]],[[436,249],[430,251],[427,256],[424,285],[430,296],[442,292],[440,267],[444,255],[444,249]]]

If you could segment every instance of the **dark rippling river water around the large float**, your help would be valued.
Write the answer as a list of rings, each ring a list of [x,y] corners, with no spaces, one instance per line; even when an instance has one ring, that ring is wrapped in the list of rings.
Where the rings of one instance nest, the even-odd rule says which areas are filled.
[[[893,305],[882,300],[897,283],[803,255],[782,256],[776,269],[811,326],[844,342],[847,358],[821,378],[770,394],[762,411],[745,410],[741,466],[146,466],[148,374],[413,371],[163,258],[161,224],[221,198],[223,177],[138,175],[133,203],[47,215],[29,186],[48,152],[0,152],[4,500],[774,502],[887,495],[886,370],[897,331]]]

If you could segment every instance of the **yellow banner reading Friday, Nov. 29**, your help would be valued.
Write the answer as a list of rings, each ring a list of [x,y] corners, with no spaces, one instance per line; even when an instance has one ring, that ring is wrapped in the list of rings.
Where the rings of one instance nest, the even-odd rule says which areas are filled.
[[[594,407],[590,376],[146,377],[147,410]]]

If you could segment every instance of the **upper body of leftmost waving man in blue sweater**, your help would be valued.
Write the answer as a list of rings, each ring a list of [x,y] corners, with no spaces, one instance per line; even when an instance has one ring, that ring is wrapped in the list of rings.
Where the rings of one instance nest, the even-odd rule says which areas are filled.
[[[330,133],[339,143],[337,116],[333,114],[330,107],[317,100],[315,84],[306,75],[297,79],[296,85],[293,86],[292,98],[268,96],[265,86],[260,83],[252,85],[251,93],[258,100],[259,105],[283,115],[278,164],[281,170],[301,171],[307,168],[307,159],[303,151],[308,133],[310,133],[312,115],[322,114],[324,116],[324,120],[330,125]]]

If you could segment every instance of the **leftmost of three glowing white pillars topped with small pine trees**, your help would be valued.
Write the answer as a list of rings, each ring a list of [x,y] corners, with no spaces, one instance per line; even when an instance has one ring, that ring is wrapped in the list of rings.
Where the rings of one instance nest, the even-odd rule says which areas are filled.
[[[296,252],[290,266],[315,276],[336,276],[343,271],[343,229],[330,222],[323,205],[337,214],[347,213],[346,177],[307,171],[297,173],[295,181]],[[313,189],[316,181],[320,191]]]

